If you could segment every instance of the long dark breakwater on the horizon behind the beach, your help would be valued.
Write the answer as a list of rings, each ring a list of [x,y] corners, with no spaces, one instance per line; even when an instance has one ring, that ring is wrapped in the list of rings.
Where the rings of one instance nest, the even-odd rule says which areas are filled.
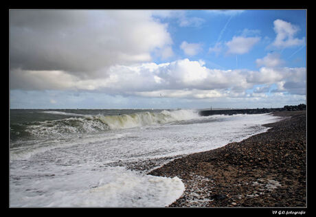
[[[226,109],[226,110],[203,110],[199,111],[201,116],[210,115],[237,115],[237,114],[262,114],[272,113],[275,111],[302,111],[306,110],[306,104],[299,104],[297,106],[284,106],[283,108],[262,108],[262,109]]]

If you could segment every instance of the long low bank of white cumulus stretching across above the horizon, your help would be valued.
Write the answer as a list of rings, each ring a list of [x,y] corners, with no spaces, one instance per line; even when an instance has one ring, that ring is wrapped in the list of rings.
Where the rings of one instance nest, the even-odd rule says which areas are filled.
[[[170,98],[219,98],[244,95],[245,90],[256,84],[279,83],[280,90],[282,88],[284,91],[302,93],[306,81],[305,68],[261,67],[258,71],[220,70],[205,67],[202,60],[189,59],[161,64],[147,62],[114,65],[102,70],[104,71],[99,73],[106,73],[108,76],[79,79],[66,71],[16,69],[11,74],[11,88],[102,91],[108,94],[147,97],[164,95]]]

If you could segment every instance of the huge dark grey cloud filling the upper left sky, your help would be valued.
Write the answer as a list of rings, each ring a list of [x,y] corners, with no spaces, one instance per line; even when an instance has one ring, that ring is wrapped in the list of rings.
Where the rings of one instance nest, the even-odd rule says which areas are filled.
[[[167,26],[139,10],[10,10],[10,66],[25,70],[95,71],[170,56]],[[104,75],[103,75],[104,76]]]

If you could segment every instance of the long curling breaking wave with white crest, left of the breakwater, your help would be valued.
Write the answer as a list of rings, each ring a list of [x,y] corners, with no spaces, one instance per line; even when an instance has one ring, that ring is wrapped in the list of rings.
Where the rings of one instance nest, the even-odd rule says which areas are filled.
[[[84,115],[66,119],[33,122],[25,131],[33,136],[93,133],[155,124],[167,124],[199,117],[194,110],[177,110],[160,113],[133,113],[129,115]]]

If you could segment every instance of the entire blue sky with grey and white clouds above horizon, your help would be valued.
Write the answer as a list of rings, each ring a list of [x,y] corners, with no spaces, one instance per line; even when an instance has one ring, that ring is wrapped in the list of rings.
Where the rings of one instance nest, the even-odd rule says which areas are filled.
[[[11,109],[306,104],[306,10],[10,10]]]

